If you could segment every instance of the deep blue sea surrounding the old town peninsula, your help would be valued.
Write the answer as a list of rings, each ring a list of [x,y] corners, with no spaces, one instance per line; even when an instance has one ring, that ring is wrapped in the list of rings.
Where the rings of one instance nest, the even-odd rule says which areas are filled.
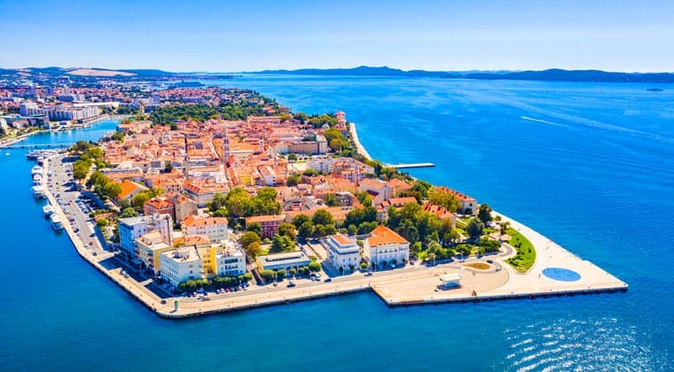
[[[25,151],[0,154],[4,370],[674,369],[674,86],[245,75],[347,112],[370,154],[522,221],[625,293],[388,308],[361,293],[171,322],[55,235]],[[27,143],[97,139],[115,123]]]

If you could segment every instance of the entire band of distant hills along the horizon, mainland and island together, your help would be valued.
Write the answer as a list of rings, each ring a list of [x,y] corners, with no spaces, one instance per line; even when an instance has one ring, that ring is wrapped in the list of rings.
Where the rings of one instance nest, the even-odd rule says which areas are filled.
[[[600,70],[562,70],[553,68],[544,71],[404,71],[388,66],[359,66],[354,68],[302,68],[299,70],[264,70],[244,74],[294,74],[321,76],[400,76],[400,77],[434,77],[444,79],[475,80],[525,80],[525,81],[597,81],[597,82],[646,82],[674,83],[672,73],[614,73]],[[98,78],[133,78],[133,79],[229,79],[231,74],[208,73],[172,73],[157,69],[105,69],[105,68],[64,68],[64,67],[27,67],[19,69],[0,68],[0,76],[17,77],[25,75],[42,75],[50,77],[82,76]]]

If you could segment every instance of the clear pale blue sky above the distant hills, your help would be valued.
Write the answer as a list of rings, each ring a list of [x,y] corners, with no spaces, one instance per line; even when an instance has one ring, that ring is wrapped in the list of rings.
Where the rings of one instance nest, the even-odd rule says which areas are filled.
[[[0,48],[0,67],[671,72],[674,0],[0,0]]]

